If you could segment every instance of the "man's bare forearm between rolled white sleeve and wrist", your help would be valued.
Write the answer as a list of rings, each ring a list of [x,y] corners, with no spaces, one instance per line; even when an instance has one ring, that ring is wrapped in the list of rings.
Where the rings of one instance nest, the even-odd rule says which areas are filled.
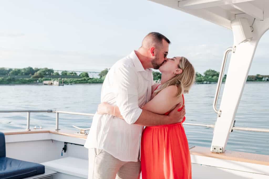
[[[169,116],[155,114],[153,112],[144,110],[142,111],[139,118],[136,120],[134,124],[140,126],[159,126],[159,125],[166,125],[172,124],[173,122],[170,120]]]

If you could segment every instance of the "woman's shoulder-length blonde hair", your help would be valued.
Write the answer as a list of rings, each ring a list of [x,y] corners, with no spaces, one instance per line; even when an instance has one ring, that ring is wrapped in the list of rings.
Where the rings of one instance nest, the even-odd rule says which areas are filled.
[[[183,93],[189,93],[190,87],[195,82],[195,70],[189,60],[185,57],[181,57],[178,68],[182,70],[181,74],[175,75],[173,78],[169,79],[158,90],[154,93],[159,93],[161,90],[168,86],[175,85],[177,87],[176,96],[180,96]]]

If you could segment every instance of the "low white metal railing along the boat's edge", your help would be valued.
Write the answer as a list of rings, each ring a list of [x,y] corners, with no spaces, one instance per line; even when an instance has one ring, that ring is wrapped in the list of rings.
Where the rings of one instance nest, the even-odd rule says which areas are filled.
[[[32,109],[31,110],[0,110],[0,113],[8,113],[8,112],[27,112],[27,127],[26,127],[26,130],[30,130],[30,113],[31,112],[56,113],[56,124],[55,124],[56,127],[55,127],[55,130],[59,130],[59,113],[62,113],[62,114],[75,114],[75,115],[83,115],[83,116],[94,116],[94,114],[92,114],[92,113],[58,111],[58,110],[55,110],[55,109],[48,109],[48,110],[32,110]],[[183,125],[214,128],[213,124],[183,123]],[[269,129],[251,128],[251,127],[232,127],[232,130],[253,131],[253,132],[268,132],[269,133]]]

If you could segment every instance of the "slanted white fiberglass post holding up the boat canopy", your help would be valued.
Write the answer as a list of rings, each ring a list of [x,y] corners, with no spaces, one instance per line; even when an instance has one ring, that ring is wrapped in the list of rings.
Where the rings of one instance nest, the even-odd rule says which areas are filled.
[[[239,22],[239,24],[240,23],[241,22]],[[241,100],[257,43],[264,32],[266,32],[266,30],[269,28],[269,19],[264,21],[256,21],[254,23],[254,30],[251,34],[253,38],[251,41],[246,40],[246,42],[242,42],[240,41],[239,37],[245,36],[247,39],[246,34],[250,32],[249,25],[242,25],[243,29],[237,27],[238,26],[233,28],[234,46],[236,46],[236,48],[233,50],[235,52],[232,53],[231,56],[220,104],[221,115],[217,116],[210,149],[211,152],[216,153],[222,153],[225,151],[225,147],[231,133],[231,128],[234,125],[235,114]],[[244,34],[244,31],[246,34]]]

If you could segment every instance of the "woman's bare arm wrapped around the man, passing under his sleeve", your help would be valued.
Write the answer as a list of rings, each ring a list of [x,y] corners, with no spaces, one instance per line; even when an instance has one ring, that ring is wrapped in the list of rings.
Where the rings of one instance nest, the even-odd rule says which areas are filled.
[[[183,98],[176,96],[176,86],[168,86],[161,90],[151,101],[142,107],[147,111],[156,114],[165,114],[173,109],[178,103],[183,105]],[[98,105],[98,114],[110,114],[123,119],[121,112],[117,106],[112,106],[107,102]]]

